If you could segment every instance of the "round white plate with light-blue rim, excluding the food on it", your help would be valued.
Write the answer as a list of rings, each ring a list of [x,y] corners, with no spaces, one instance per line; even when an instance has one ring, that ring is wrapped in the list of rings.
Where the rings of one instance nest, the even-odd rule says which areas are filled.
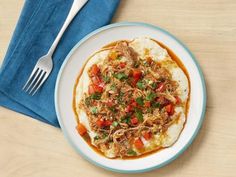
[[[134,160],[108,159],[91,149],[78,135],[72,109],[75,80],[85,60],[102,46],[116,40],[146,36],[170,48],[187,68],[190,82],[190,108],[187,123],[171,147]],[[191,52],[170,33],[144,23],[116,23],[102,27],[83,38],[69,53],[59,72],[55,90],[56,112],[62,131],[72,146],[90,162],[108,170],[138,173],[159,168],[176,159],[193,141],[204,118],[206,90],[199,65]]]

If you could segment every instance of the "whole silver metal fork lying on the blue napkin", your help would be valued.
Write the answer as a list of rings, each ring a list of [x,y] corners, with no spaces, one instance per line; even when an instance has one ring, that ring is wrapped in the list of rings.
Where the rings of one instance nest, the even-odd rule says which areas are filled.
[[[39,58],[28,80],[23,86],[22,90],[24,90],[25,92],[33,96],[37,92],[37,90],[43,85],[43,83],[46,81],[46,79],[48,78],[53,68],[52,55],[63,33],[65,32],[66,28],[68,27],[72,19],[75,17],[75,15],[84,6],[84,4],[86,4],[87,1],[88,0],[74,0],[71,6],[70,12],[60,32],[58,33],[56,39],[54,40],[52,46],[50,47],[48,53],[42,56],[41,58]]]

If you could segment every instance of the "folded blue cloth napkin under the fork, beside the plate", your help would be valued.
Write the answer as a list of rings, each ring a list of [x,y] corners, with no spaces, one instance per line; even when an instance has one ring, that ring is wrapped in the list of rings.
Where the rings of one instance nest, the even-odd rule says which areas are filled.
[[[52,73],[32,97],[21,91],[39,57],[46,54],[72,0],[27,0],[0,69],[0,105],[59,127],[54,89],[61,64],[86,34],[108,24],[119,0],[89,0],[64,33],[54,55]]]

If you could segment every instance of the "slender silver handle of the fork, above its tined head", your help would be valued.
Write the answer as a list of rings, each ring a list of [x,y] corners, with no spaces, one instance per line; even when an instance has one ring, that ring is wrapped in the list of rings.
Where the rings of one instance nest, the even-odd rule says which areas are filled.
[[[57,47],[57,44],[59,43],[63,33],[66,30],[66,28],[68,27],[70,22],[73,20],[75,15],[78,13],[78,11],[86,4],[87,1],[88,0],[74,0],[73,4],[71,6],[70,12],[67,15],[67,18],[66,18],[66,20],[65,20],[61,30],[59,31],[56,39],[54,40],[52,46],[50,47],[47,55],[50,55],[50,56],[53,55],[53,53],[54,53],[54,51],[55,51],[55,49]]]

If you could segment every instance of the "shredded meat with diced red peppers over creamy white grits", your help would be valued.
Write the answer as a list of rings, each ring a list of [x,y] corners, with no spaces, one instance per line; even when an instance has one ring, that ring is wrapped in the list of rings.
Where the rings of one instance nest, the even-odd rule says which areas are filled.
[[[163,44],[139,37],[94,53],[75,84],[77,131],[108,158],[136,158],[173,145],[186,122],[190,81]]]

